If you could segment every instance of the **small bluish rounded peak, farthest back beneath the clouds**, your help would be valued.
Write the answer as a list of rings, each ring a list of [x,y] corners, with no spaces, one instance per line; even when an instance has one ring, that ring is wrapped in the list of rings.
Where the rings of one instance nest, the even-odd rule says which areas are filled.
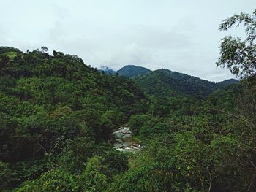
[[[142,74],[148,74],[151,70],[135,65],[127,65],[117,71],[118,74],[124,77],[134,78],[139,77]]]

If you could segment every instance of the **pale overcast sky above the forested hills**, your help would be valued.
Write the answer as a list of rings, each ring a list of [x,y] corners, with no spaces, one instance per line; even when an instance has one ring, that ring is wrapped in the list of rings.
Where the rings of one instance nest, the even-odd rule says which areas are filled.
[[[78,55],[93,67],[133,64],[219,82],[220,39],[243,28],[218,30],[235,13],[252,13],[255,0],[0,0],[0,46],[46,46]]]

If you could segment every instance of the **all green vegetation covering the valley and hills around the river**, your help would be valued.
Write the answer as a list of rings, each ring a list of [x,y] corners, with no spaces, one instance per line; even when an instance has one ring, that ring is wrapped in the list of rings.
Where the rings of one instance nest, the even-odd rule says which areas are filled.
[[[47,47],[0,47],[0,191],[256,191],[255,18],[220,28],[246,26],[217,61],[235,84],[166,69],[134,81]],[[140,153],[113,149],[126,123]]]

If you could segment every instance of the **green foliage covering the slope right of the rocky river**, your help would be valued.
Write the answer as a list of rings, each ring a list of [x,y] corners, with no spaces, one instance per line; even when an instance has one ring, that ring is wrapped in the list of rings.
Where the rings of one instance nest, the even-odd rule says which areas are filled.
[[[133,115],[129,126],[146,149],[132,160],[129,172],[113,181],[110,191],[254,191],[255,131],[252,123],[239,118],[244,107],[239,98],[241,93],[246,96],[245,90],[248,87],[232,85],[207,99],[173,99],[176,104],[169,105],[165,118],[154,116],[154,108],[148,115]],[[254,93],[252,89],[250,93]],[[154,99],[159,101],[157,96]],[[155,128],[155,122],[162,128]],[[155,177],[152,165],[157,165],[163,180],[151,180]],[[151,188],[140,183],[150,183]]]

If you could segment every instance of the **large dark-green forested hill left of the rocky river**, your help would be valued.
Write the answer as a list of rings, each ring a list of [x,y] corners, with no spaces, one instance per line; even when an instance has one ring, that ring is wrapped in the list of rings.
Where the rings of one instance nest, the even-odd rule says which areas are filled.
[[[46,52],[0,47],[0,169],[7,171],[0,191],[54,167],[80,172],[93,155],[108,158],[108,174],[124,171],[123,155],[100,143],[147,110],[132,80],[102,74],[77,55]]]

